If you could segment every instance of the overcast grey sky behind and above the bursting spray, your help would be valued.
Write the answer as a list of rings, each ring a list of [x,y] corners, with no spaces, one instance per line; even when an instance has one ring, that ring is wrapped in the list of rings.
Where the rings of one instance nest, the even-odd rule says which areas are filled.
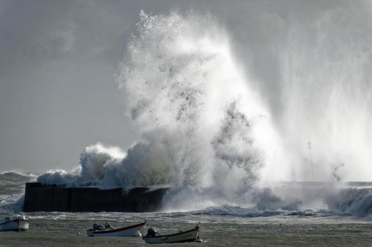
[[[0,171],[68,170],[87,145],[125,149],[138,138],[123,115],[114,73],[141,9],[214,14],[273,112],[280,112],[276,54],[289,24],[306,29],[318,12],[340,6],[371,18],[371,7],[360,11],[365,5],[371,6],[331,0],[0,0]],[[311,29],[308,34],[312,42]]]

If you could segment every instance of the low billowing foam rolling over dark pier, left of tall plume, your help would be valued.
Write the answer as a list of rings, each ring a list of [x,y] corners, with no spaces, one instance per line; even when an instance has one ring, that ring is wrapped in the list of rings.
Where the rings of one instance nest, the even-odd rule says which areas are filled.
[[[37,178],[43,184],[59,186],[98,186],[131,188],[167,184],[163,160],[154,156],[154,148],[137,142],[125,153],[118,147],[100,143],[86,147],[80,155],[80,166],[72,172],[50,171]]]

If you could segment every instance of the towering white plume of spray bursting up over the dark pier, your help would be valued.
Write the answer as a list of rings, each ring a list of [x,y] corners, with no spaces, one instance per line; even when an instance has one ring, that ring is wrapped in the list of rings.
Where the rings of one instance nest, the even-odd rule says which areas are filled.
[[[126,153],[116,148],[119,156],[101,144],[85,148],[75,175],[50,173],[38,181],[169,184],[167,205],[175,209],[247,203],[270,148],[278,146],[269,111],[249,80],[212,15],[141,12],[117,82],[142,139]]]

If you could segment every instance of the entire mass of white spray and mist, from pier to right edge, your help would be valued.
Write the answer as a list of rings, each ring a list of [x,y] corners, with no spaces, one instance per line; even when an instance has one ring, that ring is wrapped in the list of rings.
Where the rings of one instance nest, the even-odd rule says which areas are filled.
[[[342,183],[372,172],[371,11],[355,14],[363,7],[278,17],[286,38],[270,51],[280,71],[272,91],[253,75],[264,71],[251,74],[236,58],[216,16],[141,12],[117,74],[141,140],[126,151],[86,147],[72,173],[38,181],[170,186],[170,211],[370,213],[370,189]],[[314,180],[326,183],[275,182],[312,180],[311,162]]]

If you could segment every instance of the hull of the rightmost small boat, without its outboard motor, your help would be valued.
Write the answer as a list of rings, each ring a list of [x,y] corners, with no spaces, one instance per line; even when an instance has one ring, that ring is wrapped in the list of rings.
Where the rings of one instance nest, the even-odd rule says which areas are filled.
[[[186,232],[176,233],[171,235],[143,237],[146,244],[171,244],[171,243],[186,243],[194,242],[199,236],[199,227]]]

